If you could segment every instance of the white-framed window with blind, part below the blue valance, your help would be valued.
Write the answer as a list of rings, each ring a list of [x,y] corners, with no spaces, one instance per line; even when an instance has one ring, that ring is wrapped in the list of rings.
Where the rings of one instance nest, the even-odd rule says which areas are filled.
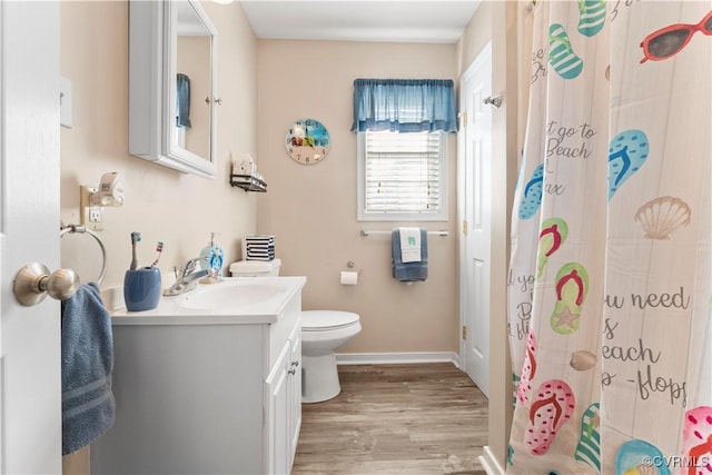
[[[358,220],[447,220],[445,135],[358,132]]]

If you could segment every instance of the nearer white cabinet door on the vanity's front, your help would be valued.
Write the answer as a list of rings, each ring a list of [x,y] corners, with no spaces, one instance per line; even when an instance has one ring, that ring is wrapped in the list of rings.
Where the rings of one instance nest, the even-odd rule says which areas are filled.
[[[289,383],[293,379],[291,350],[287,342],[277,363],[265,380],[268,400],[265,404],[267,420],[265,422],[265,441],[267,461],[265,468],[267,474],[288,474],[291,461],[291,438],[289,432]]]

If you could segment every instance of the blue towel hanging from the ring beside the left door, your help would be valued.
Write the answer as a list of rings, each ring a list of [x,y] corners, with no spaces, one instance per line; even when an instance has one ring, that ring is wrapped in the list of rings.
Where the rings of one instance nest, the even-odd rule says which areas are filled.
[[[62,301],[62,455],[113,425],[111,318],[99,286],[83,284]]]

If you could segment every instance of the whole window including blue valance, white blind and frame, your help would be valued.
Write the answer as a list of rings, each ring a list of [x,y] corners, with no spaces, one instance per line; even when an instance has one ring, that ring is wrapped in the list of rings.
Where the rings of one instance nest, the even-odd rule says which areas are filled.
[[[359,221],[446,221],[451,79],[356,79]]]

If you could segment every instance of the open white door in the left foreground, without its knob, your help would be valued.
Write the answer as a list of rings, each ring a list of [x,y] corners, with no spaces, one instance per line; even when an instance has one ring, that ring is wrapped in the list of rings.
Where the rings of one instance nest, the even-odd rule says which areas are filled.
[[[59,2],[0,2],[0,473],[61,473],[60,306],[24,307],[27,264],[59,266]]]

